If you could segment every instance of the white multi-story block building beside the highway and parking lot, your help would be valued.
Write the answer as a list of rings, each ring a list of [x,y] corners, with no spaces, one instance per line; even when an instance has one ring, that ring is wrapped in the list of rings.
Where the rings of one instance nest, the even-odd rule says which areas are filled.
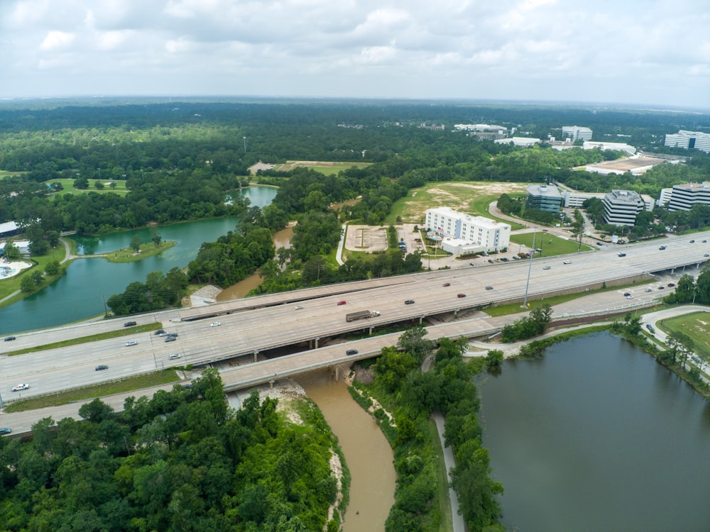
[[[470,216],[449,207],[427,209],[426,227],[441,240],[442,249],[454,255],[498,251],[510,245],[508,223]]]

